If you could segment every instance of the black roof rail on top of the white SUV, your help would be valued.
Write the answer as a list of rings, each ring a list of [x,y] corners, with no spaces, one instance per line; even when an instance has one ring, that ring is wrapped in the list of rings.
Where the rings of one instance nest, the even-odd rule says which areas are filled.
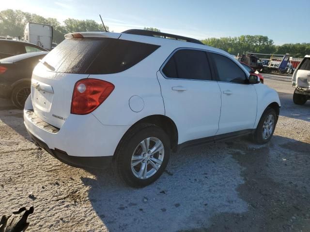
[[[180,35],[173,35],[173,34],[153,31],[153,30],[129,29],[129,30],[123,31],[122,33],[173,39],[173,40],[186,41],[186,42],[190,42],[190,43],[198,43],[198,44],[204,45],[201,41],[193,39],[193,38],[188,38],[188,37],[184,37],[184,36],[180,36]]]

